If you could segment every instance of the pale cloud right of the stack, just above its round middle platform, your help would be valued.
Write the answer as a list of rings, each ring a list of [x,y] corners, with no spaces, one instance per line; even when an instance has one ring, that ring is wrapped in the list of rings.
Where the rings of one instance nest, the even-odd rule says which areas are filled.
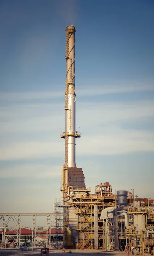
[[[86,116],[86,119],[85,119]],[[77,123],[81,129],[87,128],[89,132],[96,128],[97,132],[103,125],[115,123],[120,126],[121,122],[137,120],[154,116],[154,100],[141,100],[136,102],[82,102],[77,112]],[[100,130],[99,130],[100,131]]]

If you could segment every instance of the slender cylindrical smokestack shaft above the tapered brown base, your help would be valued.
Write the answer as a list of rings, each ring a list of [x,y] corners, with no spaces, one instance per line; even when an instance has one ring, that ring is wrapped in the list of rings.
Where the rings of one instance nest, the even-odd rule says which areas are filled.
[[[76,167],[76,93],[75,93],[75,32],[73,25],[66,28],[66,90],[65,90],[65,167]]]

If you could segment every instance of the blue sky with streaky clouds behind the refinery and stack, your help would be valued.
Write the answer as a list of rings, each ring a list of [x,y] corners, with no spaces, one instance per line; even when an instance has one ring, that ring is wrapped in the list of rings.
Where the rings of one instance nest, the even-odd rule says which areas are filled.
[[[61,200],[69,24],[77,167],[93,192],[108,181],[154,198],[153,14],[153,0],[0,1],[1,212],[52,212]]]

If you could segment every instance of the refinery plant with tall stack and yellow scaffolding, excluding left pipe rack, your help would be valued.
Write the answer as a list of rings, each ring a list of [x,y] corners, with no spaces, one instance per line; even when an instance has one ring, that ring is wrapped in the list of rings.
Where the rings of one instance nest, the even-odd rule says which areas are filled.
[[[129,245],[134,254],[154,254],[154,200],[146,205],[125,190],[113,195],[108,182],[95,186],[92,194],[85,186],[82,168],[76,167],[76,138],[81,134],[76,131],[75,32],[73,25],[67,26],[65,131],[60,135],[65,139],[64,245],[105,250],[125,250]]]

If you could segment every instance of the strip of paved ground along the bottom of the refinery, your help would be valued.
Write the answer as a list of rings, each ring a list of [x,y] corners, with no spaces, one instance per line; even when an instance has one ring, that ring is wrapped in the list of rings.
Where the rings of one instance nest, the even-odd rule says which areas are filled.
[[[126,252],[108,251],[103,250],[66,250],[65,253],[62,250],[51,249],[49,256],[127,256]],[[6,249],[0,250],[0,256],[40,256],[41,249],[35,249],[34,251],[21,251]],[[44,256],[45,254],[43,254]]]

